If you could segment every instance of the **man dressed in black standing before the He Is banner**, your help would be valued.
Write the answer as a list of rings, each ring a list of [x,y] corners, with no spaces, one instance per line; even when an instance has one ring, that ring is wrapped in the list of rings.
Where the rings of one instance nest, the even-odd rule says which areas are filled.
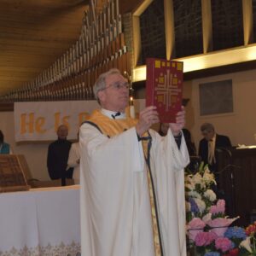
[[[73,177],[73,168],[67,171],[67,158],[71,142],[67,141],[68,129],[66,125],[60,125],[57,130],[58,139],[49,144],[47,154],[47,167],[51,179],[61,178],[61,185],[66,185],[66,178]]]

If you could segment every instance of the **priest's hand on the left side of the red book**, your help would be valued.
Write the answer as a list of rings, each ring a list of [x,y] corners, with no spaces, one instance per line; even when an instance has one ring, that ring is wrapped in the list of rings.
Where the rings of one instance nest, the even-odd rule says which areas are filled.
[[[140,112],[139,120],[135,127],[137,135],[141,137],[145,131],[148,131],[151,125],[156,123],[159,123],[159,116],[156,111],[156,107],[150,106],[148,108],[144,108],[143,111]]]

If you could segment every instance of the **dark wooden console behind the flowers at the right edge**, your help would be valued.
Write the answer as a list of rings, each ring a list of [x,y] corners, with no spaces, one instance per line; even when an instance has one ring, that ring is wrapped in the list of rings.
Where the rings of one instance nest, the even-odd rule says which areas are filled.
[[[227,214],[240,216],[236,224],[253,223],[256,209],[256,148],[231,148],[218,152],[219,189],[228,203]],[[255,214],[255,213],[254,213]]]

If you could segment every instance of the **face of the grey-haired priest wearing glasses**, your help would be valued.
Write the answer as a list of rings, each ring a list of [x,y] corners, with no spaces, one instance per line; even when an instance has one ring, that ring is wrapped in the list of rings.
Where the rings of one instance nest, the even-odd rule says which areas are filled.
[[[129,84],[120,74],[111,74],[106,78],[106,88],[98,96],[102,108],[116,112],[125,112],[129,101]]]

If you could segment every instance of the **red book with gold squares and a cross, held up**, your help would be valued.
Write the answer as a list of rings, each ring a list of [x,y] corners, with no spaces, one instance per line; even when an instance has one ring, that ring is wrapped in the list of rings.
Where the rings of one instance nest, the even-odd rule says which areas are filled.
[[[161,123],[175,123],[182,106],[183,62],[150,58],[146,64],[146,107],[157,107]]]

